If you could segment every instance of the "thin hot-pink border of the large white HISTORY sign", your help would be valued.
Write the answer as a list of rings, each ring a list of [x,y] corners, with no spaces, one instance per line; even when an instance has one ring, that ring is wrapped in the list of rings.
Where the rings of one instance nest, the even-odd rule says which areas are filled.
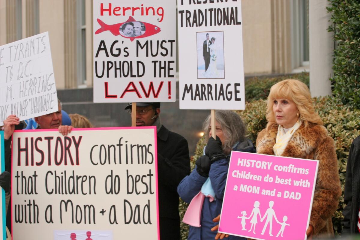
[[[156,207],[157,207],[157,232],[158,240],[160,240],[159,228],[159,189],[158,189],[158,163],[157,163],[157,130],[156,126],[149,127],[94,127],[94,128],[73,128],[71,131],[98,131],[98,130],[129,130],[129,129],[153,129],[154,130],[154,147],[155,147],[155,173],[156,173]],[[15,130],[15,132],[58,132],[58,129],[31,129],[31,130]],[[12,136],[13,139],[13,136]],[[13,142],[11,141],[11,174],[13,174]],[[11,178],[11,189],[13,189],[13,178]],[[13,198],[11,198],[11,206],[13,206]],[[13,213],[11,212],[11,222],[13,223]],[[11,239],[13,240],[13,224],[11,224]]]

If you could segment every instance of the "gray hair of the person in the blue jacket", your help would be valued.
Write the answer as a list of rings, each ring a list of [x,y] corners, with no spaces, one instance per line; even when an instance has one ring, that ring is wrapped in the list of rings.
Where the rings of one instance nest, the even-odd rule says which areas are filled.
[[[222,150],[224,153],[228,154],[234,144],[245,140],[245,124],[240,116],[231,110],[216,110],[215,120],[220,124],[225,136],[225,141],[222,143]],[[209,115],[203,123],[203,131],[206,141],[209,139],[210,124],[211,115]]]

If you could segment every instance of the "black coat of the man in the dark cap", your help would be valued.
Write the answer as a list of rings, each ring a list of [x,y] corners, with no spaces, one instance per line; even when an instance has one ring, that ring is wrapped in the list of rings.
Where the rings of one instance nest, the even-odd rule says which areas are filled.
[[[172,239],[166,236],[167,232],[170,231],[170,234],[174,229],[180,231],[179,195],[176,189],[180,181],[190,174],[188,141],[161,126],[157,133],[157,153],[160,235],[161,240],[167,240]],[[168,218],[176,220],[176,226],[172,229],[162,227],[168,226]],[[176,235],[180,236],[180,232]]]

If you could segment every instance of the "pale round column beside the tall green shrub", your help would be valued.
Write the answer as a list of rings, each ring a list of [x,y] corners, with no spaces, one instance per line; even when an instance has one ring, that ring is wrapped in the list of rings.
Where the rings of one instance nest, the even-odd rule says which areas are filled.
[[[334,41],[327,28],[331,14],[328,0],[309,1],[309,60],[311,96],[331,95]]]

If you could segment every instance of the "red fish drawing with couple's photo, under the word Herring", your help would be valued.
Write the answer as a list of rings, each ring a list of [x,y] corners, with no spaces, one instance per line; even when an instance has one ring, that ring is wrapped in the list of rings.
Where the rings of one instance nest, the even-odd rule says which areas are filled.
[[[128,32],[123,32],[123,30],[121,29],[121,26],[124,23],[138,22],[131,16],[124,23],[116,23],[116,24],[112,24],[112,25],[108,25],[108,24],[104,23],[99,18],[96,19],[96,20],[98,21],[98,23],[100,24],[101,27],[98,30],[96,30],[95,34],[99,34],[99,33],[104,32],[104,31],[110,31],[115,36],[121,35],[121,36],[123,36],[123,37],[125,37],[127,39],[130,39],[131,41],[134,41],[134,39],[139,39],[139,38],[142,38],[142,37],[152,36],[152,35],[154,35],[154,34],[161,31],[161,29],[158,26],[155,26],[155,25],[150,24],[150,23],[142,22],[144,24],[144,26],[145,26],[145,32],[143,34],[141,34],[140,36],[135,36],[133,33],[131,33],[131,29],[130,29],[131,27],[130,26],[129,26],[129,31]]]

